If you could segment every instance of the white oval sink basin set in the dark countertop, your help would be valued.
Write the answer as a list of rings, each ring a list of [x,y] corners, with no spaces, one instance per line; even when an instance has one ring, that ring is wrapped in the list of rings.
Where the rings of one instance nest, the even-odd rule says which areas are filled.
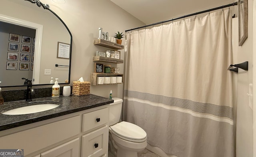
[[[2,114],[7,114],[7,115],[32,114],[32,113],[51,110],[58,106],[59,105],[57,105],[57,104],[38,104],[38,105],[31,105],[31,106],[15,108],[15,109],[3,112]]]

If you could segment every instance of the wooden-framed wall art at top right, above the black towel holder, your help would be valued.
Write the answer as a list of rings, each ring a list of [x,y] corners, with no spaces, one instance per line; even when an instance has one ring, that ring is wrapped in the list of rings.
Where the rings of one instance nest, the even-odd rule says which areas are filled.
[[[242,46],[248,37],[248,2],[238,0],[238,45]]]

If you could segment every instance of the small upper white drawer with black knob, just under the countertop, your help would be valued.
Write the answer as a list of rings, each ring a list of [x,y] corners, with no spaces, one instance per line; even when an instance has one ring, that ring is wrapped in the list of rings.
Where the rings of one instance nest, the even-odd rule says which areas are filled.
[[[83,114],[82,131],[88,131],[108,123],[108,108]]]

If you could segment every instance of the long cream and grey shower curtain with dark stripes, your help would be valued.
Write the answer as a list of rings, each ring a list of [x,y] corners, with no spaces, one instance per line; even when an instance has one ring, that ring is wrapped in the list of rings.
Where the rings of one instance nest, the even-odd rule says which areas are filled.
[[[126,33],[123,119],[178,157],[234,157],[229,10]]]

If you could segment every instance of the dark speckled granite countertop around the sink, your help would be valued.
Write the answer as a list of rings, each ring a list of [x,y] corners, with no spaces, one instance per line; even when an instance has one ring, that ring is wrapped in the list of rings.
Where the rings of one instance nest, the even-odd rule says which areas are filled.
[[[89,108],[94,108],[114,102],[114,100],[104,98],[101,96],[96,96],[94,94],[89,94],[86,96],[60,96],[59,98],[45,97],[45,98],[35,98],[32,102],[38,101],[55,101],[60,106],[53,108],[51,110],[33,113],[33,114],[22,114],[22,115],[4,115],[0,114],[0,131],[7,130],[10,128],[15,128],[18,126],[23,126],[26,124],[31,124],[34,122],[39,122],[42,120],[47,120],[50,118],[55,118],[58,116],[63,116],[66,114],[71,114],[74,112],[87,110]],[[25,100],[5,102],[0,105],[0,113],[14,108],[19,108],[23,106],[29,106],[32,103],[28,103]]]

